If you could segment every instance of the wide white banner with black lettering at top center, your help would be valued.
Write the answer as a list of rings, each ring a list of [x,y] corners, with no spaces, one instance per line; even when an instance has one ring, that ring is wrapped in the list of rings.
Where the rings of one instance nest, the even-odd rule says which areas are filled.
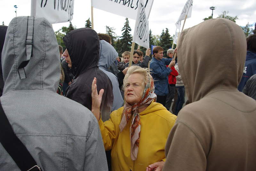
[[[143,0],[147,18],[149,17],[154,0]],[[136,19],[139,0],[91,0],[92,7],[111,12],[129,19]]]

